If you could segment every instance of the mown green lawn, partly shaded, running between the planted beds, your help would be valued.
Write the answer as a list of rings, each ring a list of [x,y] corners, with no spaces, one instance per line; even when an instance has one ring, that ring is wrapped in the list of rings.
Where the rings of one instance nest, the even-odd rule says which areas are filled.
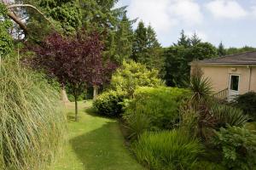
[[[141,170],[125,148],[119,122],[90,114],[91,102],[79,102],[79,122],[73,103],[66,105],[67,138],[53,170]]]

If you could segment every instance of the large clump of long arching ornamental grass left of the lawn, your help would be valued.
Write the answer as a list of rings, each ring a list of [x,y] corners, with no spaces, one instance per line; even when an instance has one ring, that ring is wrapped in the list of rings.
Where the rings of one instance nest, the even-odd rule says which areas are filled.
[[[48,169],[66,126],[58,94],[37,73],[4,62],[0,71],[0,169]]]

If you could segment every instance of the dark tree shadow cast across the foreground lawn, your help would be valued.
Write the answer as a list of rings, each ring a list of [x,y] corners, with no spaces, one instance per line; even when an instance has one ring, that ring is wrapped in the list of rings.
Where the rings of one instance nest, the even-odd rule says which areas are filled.
[[[86,170],[138,169],[132,168],[132,164],[136,166],[136,161],[125,149],[117,122],[108,122],[69,142]]]

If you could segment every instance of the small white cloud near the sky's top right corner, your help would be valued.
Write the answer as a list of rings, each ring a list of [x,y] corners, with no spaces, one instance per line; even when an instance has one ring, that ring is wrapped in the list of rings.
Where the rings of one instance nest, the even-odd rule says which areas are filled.
[[[240,19],[247,16],[247,11],[236,0],[213,0],[206,6],[215,18]]]

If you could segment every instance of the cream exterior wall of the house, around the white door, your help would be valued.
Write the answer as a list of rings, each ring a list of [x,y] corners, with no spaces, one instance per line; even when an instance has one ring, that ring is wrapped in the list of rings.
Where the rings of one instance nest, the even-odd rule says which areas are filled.
[[[212,82],[212,89],[215,93],[229,88],[231,74],[240,76],[239,94],[245,94],[248,91],[256,91],[256,67],[251,68],[250,73],[250,67],[245,65],[201,65],[201,71],[203,72],[203,77],[208,77],[210,82]]]

